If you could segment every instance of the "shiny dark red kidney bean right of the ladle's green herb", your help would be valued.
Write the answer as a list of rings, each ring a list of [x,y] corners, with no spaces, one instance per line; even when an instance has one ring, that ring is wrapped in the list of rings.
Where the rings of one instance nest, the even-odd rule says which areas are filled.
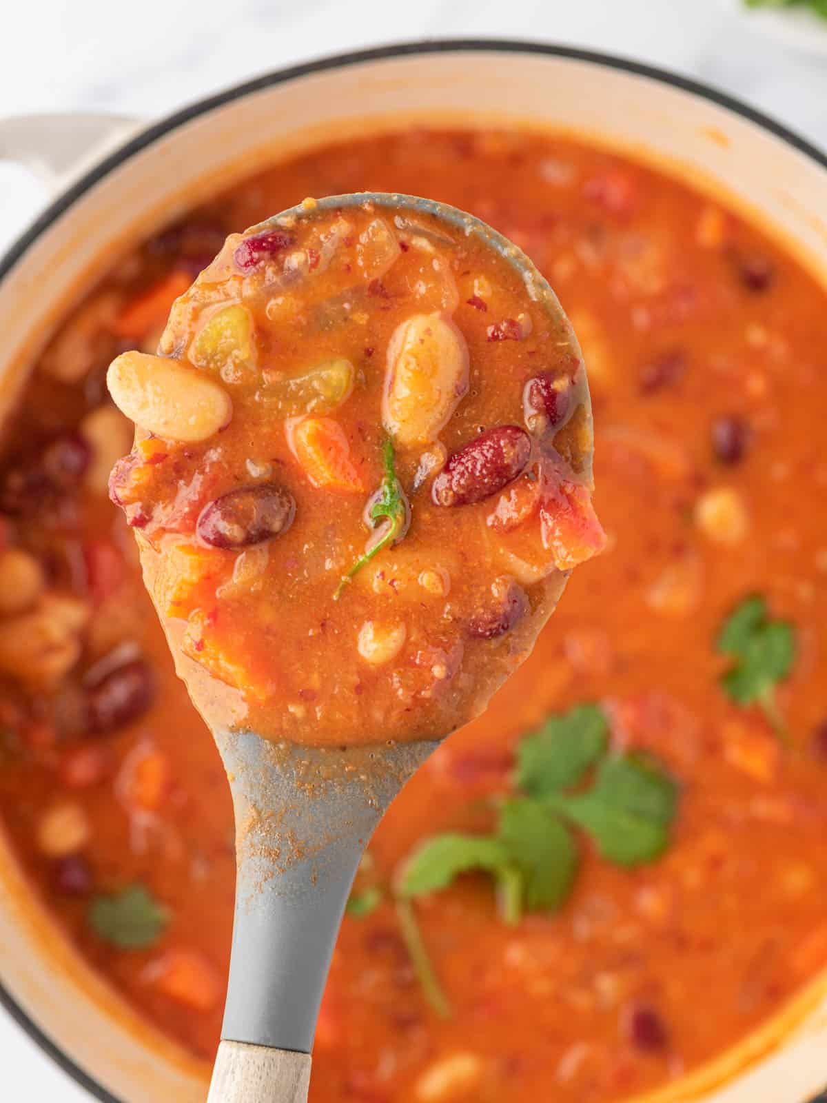
[[[488,429],[457,452],[433,480],[437,505],[471,505],[496,494],[520,474],[531,456],[531,438],[516,425]]]

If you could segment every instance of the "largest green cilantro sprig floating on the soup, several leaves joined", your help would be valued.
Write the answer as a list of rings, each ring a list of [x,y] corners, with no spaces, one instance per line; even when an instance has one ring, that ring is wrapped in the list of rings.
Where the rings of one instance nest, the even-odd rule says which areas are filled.
[[[515,924],[526,912],[554,912],[568,900],[580,865],[576,829],[603,858],[630,868],[654,861],[669,844],[676,781],[651,756],[612,752],[597,705],[551,716],[524,736],[514,782],[517,792],[498,803],[488,834],[448,832],[415,850],[398,878],[400,900],[482,872],[494,885],[501,918]],[[407,922],[415,922],[412,909]],[[445,1003],[442,995],[440,1006]]]

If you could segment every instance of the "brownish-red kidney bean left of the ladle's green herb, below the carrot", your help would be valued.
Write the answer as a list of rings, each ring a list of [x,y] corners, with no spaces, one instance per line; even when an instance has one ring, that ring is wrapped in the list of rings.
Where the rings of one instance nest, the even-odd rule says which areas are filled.
[[[286,533],[294,516],[292,494],[275,483],[257,483],[205,505],[195,532],[214,548],[245,548]]]

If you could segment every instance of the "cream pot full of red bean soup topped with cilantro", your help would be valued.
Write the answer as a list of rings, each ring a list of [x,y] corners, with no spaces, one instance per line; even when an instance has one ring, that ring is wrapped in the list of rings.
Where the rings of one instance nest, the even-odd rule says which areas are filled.
[[[494,223],[558,288],[616,548],[377,836],[316,1097],[816,1094],[824,157],[683,78],[514,42],[333,57],[149,126],[11,120],[0,150],[51,159],[58,189],[0,263],[9,1011],[98,1099],[204,1097],[229,810],[103,496],[128,441],[101,370],[154,351],[229,229],[304,194],[400,190]],[[400,558],[375,585],[444,581]]]

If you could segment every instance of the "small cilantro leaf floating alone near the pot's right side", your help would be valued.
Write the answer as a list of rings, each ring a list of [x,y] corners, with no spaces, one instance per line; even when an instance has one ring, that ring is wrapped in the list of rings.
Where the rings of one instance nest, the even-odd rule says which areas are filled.
[[[733,665],[721,686],[737,705],[761,706],[773,728],[784,732],[775,705],[775,686],[793,668],[795,630],[788,621],[773,620],[766,601],[753,595],[727,618],[717,641],[718,651],[731,655]]]

